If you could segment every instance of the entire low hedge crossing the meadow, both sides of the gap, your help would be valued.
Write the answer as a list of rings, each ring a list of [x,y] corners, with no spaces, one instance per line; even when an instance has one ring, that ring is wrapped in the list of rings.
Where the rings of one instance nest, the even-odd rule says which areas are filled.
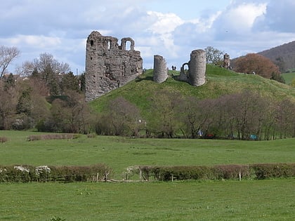
[[[265,180],[295,178],[295,163],[255,163],[216,166],[130,166],[124,181],[139,174],[139,180]],[[105,164],[92,166],[1,166],[0,182],[101,182],[112,180]],[[136,181],[136,180],[129,180]]]

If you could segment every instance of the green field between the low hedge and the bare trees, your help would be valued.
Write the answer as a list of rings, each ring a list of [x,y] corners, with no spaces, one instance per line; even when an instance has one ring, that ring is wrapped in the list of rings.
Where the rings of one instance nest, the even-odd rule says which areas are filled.
[[[73,140],[27,141],[32,132],[0,131],[0,165],[92,165],[105,163],[122,179],[128,166],[217,165],[295,162],[294,139],[273,141],[148,139],[81,135]]]

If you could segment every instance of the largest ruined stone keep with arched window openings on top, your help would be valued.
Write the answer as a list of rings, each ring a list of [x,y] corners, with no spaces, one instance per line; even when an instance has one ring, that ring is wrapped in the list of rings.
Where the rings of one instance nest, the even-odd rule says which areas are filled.
[[[130,42],[130,50],[126,43]],[[93,31],[86,41],[86,101],[94,100],[143,73],[140,51],[134,50],[134,41],[103,36]]]

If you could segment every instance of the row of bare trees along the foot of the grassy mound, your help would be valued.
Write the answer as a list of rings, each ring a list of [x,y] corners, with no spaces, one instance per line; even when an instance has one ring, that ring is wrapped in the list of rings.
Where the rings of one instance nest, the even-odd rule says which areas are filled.
[[[150,98],[145,116],[122,97],[110,101],[98,116],[96,133],[156,138],[294,138],[294,109],[291,100],[275,101],[251,91],[198,100],[164,90]]]

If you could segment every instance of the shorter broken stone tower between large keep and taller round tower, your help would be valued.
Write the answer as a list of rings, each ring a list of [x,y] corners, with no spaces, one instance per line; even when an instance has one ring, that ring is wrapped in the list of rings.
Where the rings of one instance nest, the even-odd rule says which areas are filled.
[[[166,60],[161,55],[154,55],[154,76],[153,81],[162,83],[168,78]]]

